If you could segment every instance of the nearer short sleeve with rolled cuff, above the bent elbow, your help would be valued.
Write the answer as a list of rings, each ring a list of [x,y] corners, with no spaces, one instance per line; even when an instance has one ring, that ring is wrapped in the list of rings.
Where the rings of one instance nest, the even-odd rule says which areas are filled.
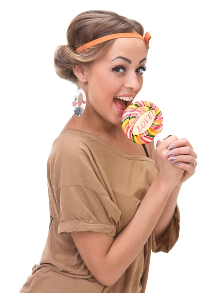
[[[81,186],[62,187],[59,234],[94,231],[115,236],[121,211],[109,195]]]

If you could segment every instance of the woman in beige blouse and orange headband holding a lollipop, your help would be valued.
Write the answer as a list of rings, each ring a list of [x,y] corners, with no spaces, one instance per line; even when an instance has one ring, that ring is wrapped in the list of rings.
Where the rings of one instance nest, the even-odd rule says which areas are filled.
[[[132,34],[106,39],[124,33]],[[176,136],[143,147],[121,127],[143,86],[150,35],[142,36],[137,21],[86,11],[55,52],[57,74],[84,93],[48,158],[49,233],[20,293],[144,293],[151,250],[178,240],[177,197],[197,154]]]

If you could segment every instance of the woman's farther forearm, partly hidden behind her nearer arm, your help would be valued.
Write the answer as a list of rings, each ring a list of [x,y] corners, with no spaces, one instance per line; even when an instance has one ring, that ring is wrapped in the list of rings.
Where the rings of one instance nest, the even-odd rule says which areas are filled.
[[[168,228],[173,218],[174,211],[177,205],[177,198],[178,198],[178,194],[181,189],[181,186],[182,185],[177,186],[176,188],[173,189],[173,191],[171,192],[169,196],[169,199],[166,202],[165,208],[163,209],[163,213],[154,228],[156,240],[159,239],[163,235],[163,233],[166,231],[166,229]]]

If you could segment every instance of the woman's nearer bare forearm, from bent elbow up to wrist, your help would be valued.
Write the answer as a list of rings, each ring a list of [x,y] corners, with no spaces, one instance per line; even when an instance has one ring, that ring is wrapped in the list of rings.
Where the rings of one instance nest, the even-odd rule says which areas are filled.
[[[173,188],[157,179],[152,183],[135,215],[116,235],[105,255],[104,279],[114,284],[135,260],[162,215]]]

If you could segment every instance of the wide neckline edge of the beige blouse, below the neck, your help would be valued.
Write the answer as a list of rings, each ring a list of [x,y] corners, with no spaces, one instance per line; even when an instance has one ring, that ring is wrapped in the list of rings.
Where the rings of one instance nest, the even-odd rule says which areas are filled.
[[[100,141],[104,146],[106,146],[108,149],[110,149],[111,151],[113,151],[114,153],[116,153],[117,155],[125,158],[125,159],[140,159],[140,160],[146,160],[146,161],[149,161],[150,163],[152,163],[153,165],[156,166],[155,164],[155,161],[150,158],[150,157],[147,157],[147,156],[143,156],[143,155],[128,155],[128,154],[125,154],[123,153],[122,151],[120,151],[119,149],[117,149],[116,147],[113,147],[113,146],[110,146],[105,140],[103,140],[102,138],[94,135],[94,134],[91,134],[89,132],[85,132],[85,131],[80,131],[80,130],[77,130],[77,129],[73,129],[73,128],[65,128],[63,130],[61,130],[61,132],[65,131],[65,130],[72,130],[72,131],[75,131],[75,132],[78,132],[78,133],[81,133],[81,134],[86,134],[87,136],[89,136],[89,138],[91,139],[96,139],[98,141]]]

